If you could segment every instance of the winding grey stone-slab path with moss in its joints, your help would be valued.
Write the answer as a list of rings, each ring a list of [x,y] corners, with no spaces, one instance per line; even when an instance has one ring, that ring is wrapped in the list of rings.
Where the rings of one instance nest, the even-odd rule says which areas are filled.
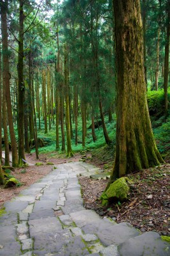
[[[167,256],[169,243],[156,232],[141,234],[129,223],[101,219],[83,207],[77,175],[96,174],[85,163],[59,164],[4,204],[1,256]]]

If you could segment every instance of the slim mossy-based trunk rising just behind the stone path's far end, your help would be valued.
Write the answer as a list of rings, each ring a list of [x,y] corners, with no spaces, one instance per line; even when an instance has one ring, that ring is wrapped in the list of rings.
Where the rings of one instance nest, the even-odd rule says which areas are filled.
[[[64,78],[65,78],[65,101],[66,101],[66,131],[67,131],[67,156],[73,156],[71,148],[71,129],[70,129],[70,111],[69,111],[69,63],[67,46],[64,45]]]

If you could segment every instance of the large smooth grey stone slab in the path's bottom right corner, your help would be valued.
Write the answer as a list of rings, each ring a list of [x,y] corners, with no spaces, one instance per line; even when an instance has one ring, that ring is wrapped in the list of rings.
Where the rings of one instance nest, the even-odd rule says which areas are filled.
[[[169,256],[170,244],[162,241],[157,232],[145,232],[131,237],[118,247],[120,256]]]

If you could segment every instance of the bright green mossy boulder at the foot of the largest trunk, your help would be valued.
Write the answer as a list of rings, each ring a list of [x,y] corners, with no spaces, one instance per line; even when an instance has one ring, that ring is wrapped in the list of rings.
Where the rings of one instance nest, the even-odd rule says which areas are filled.
[[[132,184],[132,181],[127,177],[122,177],[111,183],[109,188],[101,195],[102,205],[106,206],[113,200],[126,200],[130,184]]]

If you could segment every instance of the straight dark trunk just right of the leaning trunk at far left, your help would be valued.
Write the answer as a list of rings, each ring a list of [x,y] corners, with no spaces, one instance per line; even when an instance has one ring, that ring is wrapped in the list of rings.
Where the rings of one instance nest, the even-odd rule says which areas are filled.
[[[24,59],[24,0],[19,1],[19,40],[18,40],[18,164],[22,165],[22,159],[25,159],[24,152],[24,77],[23,77],[23,59]]]

